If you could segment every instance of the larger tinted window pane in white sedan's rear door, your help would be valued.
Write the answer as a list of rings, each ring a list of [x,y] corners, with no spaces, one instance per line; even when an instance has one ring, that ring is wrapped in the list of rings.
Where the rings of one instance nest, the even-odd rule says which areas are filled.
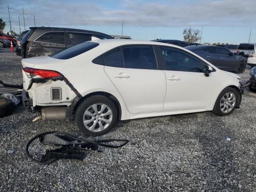
[[[157,69],[152,46],[127,46],[122,48],[125,68]]]

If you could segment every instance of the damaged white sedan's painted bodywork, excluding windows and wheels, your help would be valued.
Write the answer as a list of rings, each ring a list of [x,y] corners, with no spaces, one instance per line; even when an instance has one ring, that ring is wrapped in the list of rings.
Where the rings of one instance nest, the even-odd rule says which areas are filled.
[[[240,85],[239,76],[227,74],[200,56],[179,46],[136,40],[96,40],[94,42],[99,43],[99,46],[73,58],[66,60],[49,56],[26,58],[22,59],[22,66],[60,72],[82,96],[94,92],[112,94],[120,103],[121,120],[212,110],[216,98],[224,88]],[[178,48],[200,58],[215,68],[216,72],[205,77],[204,73],[115,68],[92,63],[94,58],[104,52],[128,44],[152,44]],[[114,74],[120,73],[130,77],[114,78]],[[76,97],[71,88],[60,80],[54,82],[50,80],[42,84],[33,83],[29,88],[31,79],[24,72],[22,74],[24,89],[33,99],[33,106],[68,106]],[[167,80],[172,76],[178,76],[180,81]],[[62,89],[61,100],[50,100],[49,91],[52,87]]]

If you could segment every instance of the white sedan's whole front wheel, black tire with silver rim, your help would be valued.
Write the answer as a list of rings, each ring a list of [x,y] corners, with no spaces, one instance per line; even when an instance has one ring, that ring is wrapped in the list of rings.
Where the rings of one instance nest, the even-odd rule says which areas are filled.
[[[220,92],[212,112],[219,116],[227,116],[235,110],[237,102],[238,91],[227,87]]]

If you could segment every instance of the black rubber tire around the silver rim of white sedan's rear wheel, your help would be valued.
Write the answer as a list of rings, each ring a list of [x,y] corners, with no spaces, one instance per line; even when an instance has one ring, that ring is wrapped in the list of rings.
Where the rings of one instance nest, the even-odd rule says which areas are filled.
[[[90,131],[89,129],[86,128],[86,126],[84,125],[84,113],[85,111],[92,105],[94,104],[105,104],[107,105],[111,112],[112,112],[112,120],[110,122],[110,124],[108,125],[108,127],[106,127],[104,130],[102,131]],[[100,105],[98,106],[100,107]],[[92,112],[93,113],[93,112]],[[95,112],[94,112],[95,113]],[[88,116],[89,117],[89,116]],[[97,115],[94,120],[96,120],[96,118],[102,118],[100,117],[100,115]],[[92,119],[89,117],[89,120]],[[88,119],[87,119],[88,120]],[[114,105],[114,103],[107,97],[102,96],[102,95],[96,95],[96,96],[91,96],[89,98],[87,98],[86,100],[84,100],[82,103],[80,103],[80,105],[78,106],[77,110],[76,110],[76,117],[75,117],[75,121],[76,121],[76,125],[78,126],[79,130],[85,134],[85,135],[90,135],[90,136],[100,136],[100,135],[104,135],[106,134],[108,131],[110,131],[116,124],[117,121],[117,110],[116,110],[116,106]],[[102,120],[98,121],[102,122],[102,124],[104,124],[104,122]],[[92,122],[94,123],[94,121]],[[90,125],[90,124],[88,124]],[[99,124],[98,124],[99,126]],[[96,123],[96,127],[97,127],[97,123]]]

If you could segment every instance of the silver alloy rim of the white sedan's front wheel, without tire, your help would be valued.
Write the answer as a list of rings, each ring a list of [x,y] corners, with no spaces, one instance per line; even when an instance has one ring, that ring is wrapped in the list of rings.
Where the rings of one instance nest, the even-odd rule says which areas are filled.
[[[223,113],[230,112],[236,104],[236,96],[232,92],[228,92],[224,94],[224,96],[220,100],[220,110]]]

